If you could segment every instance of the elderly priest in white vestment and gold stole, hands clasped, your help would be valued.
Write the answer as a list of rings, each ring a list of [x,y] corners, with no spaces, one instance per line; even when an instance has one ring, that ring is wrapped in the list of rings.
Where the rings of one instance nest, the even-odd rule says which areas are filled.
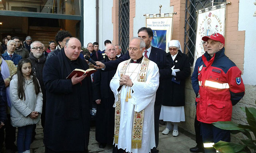
[[[131,59],[118,65],[110,81],[115,96],[113,153],[149,153],[155,147],[154,102],[159,70],[142,55],[145,46],[142,38],[133,37],[128,47]]]

